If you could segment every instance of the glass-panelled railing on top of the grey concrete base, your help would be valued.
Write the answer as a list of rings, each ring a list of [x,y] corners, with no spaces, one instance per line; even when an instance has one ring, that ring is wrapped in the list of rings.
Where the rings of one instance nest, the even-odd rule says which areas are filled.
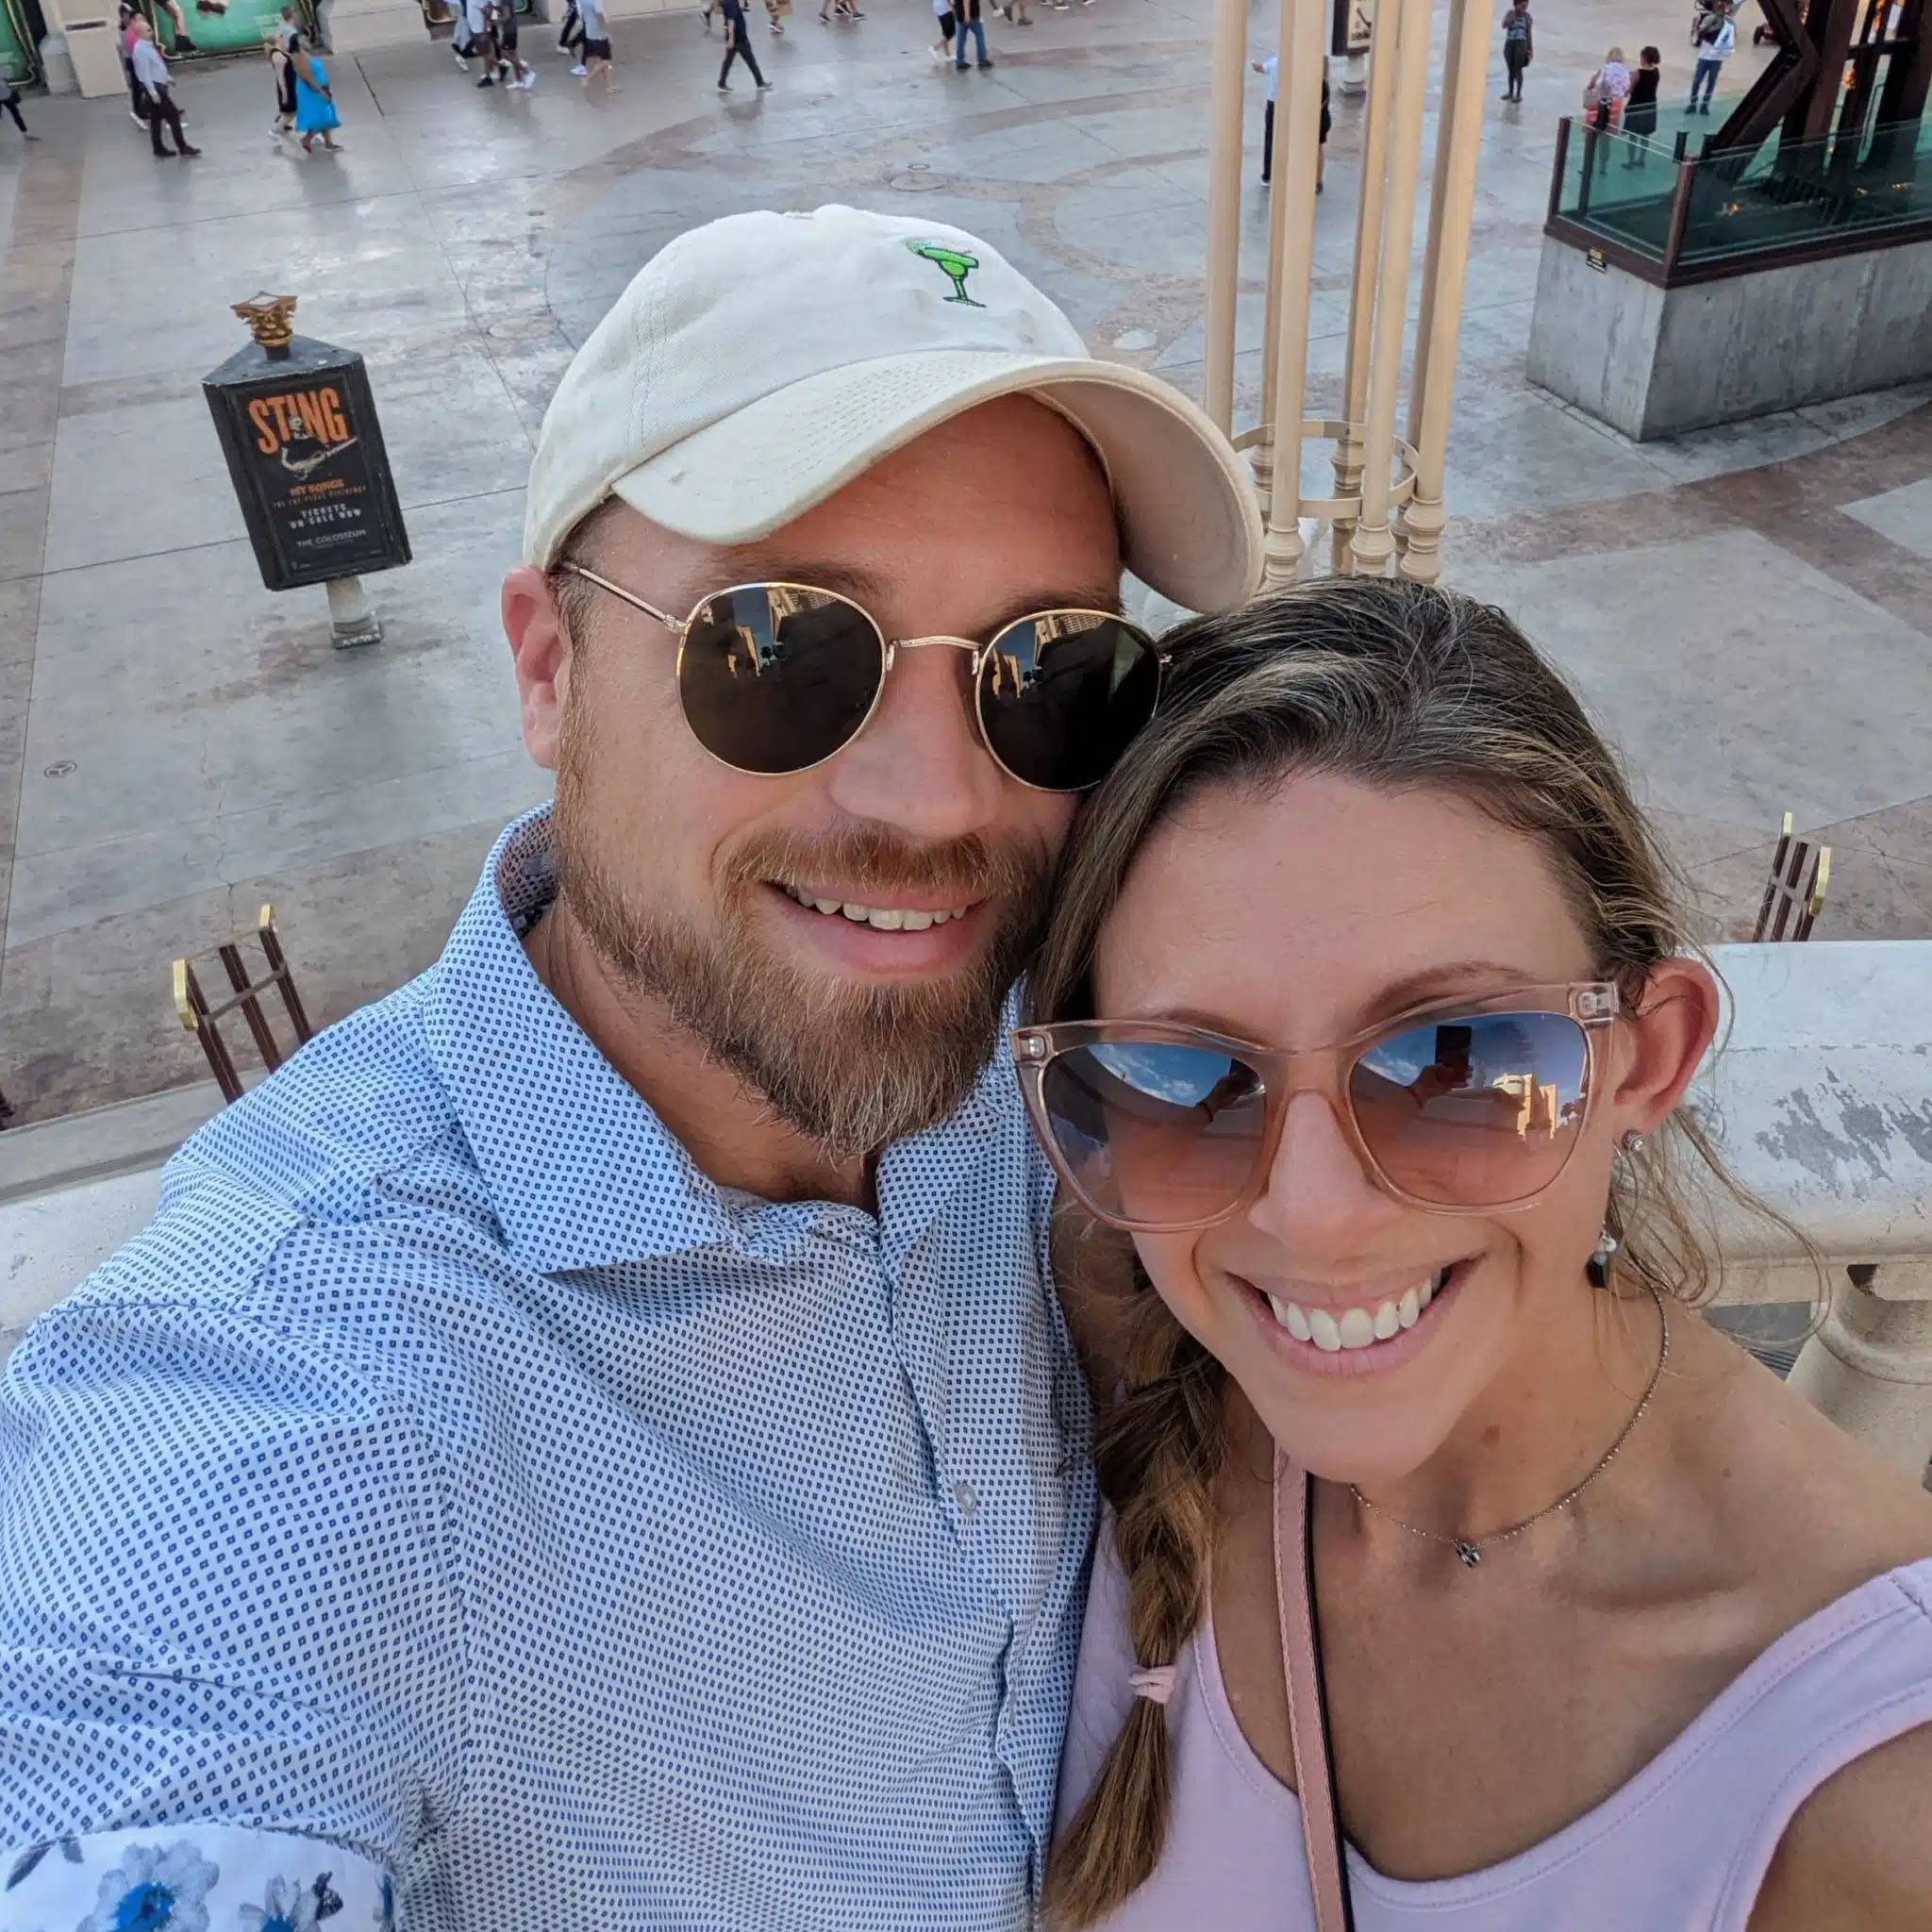
[[[1660,288],[1932,238],[1932,122],[1692,151],[1563,120],[1546,234]]]

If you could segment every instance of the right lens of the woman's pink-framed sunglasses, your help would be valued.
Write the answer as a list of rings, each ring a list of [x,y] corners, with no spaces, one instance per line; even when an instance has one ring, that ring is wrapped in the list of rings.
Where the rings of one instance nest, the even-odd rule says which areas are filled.
[[[1584,1032],[1567,1014],[1466,1014],[1370,1047],[1349,1076],[1349,1101],[1370,1153],[1406,1194],[1503,1208],[1563,1171],[1588,1074]]]

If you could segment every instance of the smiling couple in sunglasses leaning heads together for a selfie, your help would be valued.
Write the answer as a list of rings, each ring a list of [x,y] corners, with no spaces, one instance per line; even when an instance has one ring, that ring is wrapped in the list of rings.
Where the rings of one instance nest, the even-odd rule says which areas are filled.
[[[0,1383],[0,1932],[1932,1924],[1932,1499],[1698,1312],[1669,860],[1260,551],[960,230],[630,282],[554,804]]]

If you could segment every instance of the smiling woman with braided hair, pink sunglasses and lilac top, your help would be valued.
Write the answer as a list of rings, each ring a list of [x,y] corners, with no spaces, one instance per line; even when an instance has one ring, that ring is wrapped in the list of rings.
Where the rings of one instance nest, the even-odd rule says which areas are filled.
[[[1134,1231],[1063,1267],[1111,1515],[1047,1922],[1318,1924],[1279,1507],[1358,1932],[1932,1924],[1932,1503],[1692,1312],[1718,993],[1615,757],[1420,585],[1171,653],[1016,1036]]]

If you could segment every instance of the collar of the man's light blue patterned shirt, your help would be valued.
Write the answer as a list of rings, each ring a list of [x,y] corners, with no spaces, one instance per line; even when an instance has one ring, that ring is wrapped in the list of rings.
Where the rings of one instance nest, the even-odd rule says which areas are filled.
[[[429,1055],[510,1250],[539,1273],[558,1273],[740,1250],[781,1229],[796,1236],[823,1204],[719,1188],[537,978],[522,935],[554,893],[551,808],[539,806],[493,846],[425,991]],[[1016,1024],[1016,1003],[1018,991],[1005,1026]],[[1016,1105],[1012,1068],[995,1047],[949,1121],[885,1150],[889,1250],[918,1238]]]

